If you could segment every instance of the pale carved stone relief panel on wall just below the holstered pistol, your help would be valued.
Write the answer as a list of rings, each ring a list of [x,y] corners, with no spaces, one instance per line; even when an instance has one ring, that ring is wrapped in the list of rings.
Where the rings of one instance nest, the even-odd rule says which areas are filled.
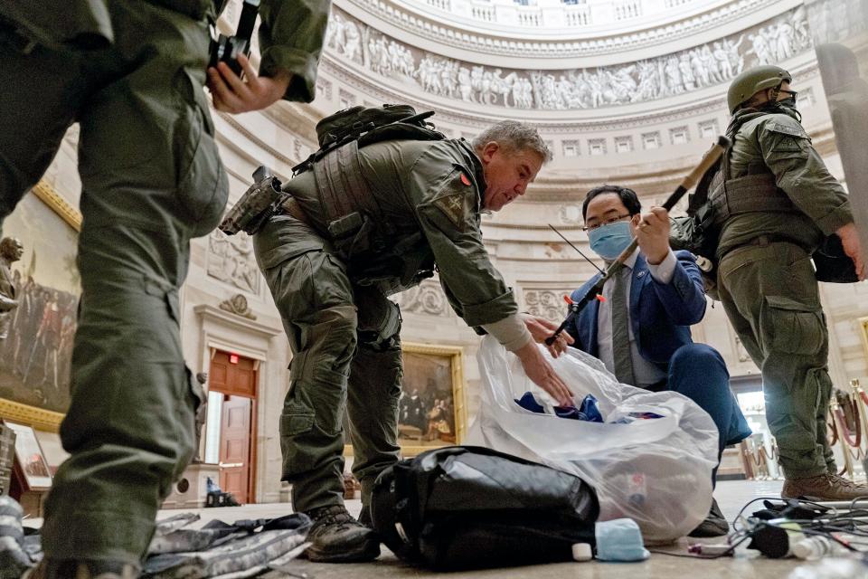
[[[259,295],[262,276],[247,233],[226,235],[215,229],[208,238],[207,271],[212,278]]]

